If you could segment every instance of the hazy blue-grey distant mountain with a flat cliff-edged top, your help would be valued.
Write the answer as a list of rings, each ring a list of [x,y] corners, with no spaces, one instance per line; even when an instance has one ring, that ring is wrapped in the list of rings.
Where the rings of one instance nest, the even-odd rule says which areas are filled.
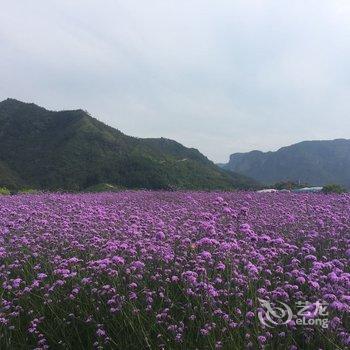
[[[301,181],[350,188],[350,140],[304,141],[276,152],[235,153],[221,166],[265,184]]]

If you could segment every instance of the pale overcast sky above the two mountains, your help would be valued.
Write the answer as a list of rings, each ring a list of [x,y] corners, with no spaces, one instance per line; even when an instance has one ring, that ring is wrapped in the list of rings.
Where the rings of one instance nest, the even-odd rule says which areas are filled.
[[[7,97],[217,162],[350,138],[350,1],[4,1]]]

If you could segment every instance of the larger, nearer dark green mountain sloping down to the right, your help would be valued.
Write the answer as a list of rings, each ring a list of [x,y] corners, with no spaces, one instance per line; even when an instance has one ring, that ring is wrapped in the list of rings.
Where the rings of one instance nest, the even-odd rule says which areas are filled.
[[[218,168],[199,151],[130,137],[83,110],[0,102],[0,186],[79,191],[120,188],[232,189],[256,182]],[[102,186],[103,187],[103,186]]]

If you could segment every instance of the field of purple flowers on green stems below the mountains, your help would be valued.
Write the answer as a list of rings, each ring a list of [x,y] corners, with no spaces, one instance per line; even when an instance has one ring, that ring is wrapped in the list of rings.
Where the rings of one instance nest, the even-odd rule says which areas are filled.
[[[347,349],[350,195],[2,196],[0,295],[0,349]]]

